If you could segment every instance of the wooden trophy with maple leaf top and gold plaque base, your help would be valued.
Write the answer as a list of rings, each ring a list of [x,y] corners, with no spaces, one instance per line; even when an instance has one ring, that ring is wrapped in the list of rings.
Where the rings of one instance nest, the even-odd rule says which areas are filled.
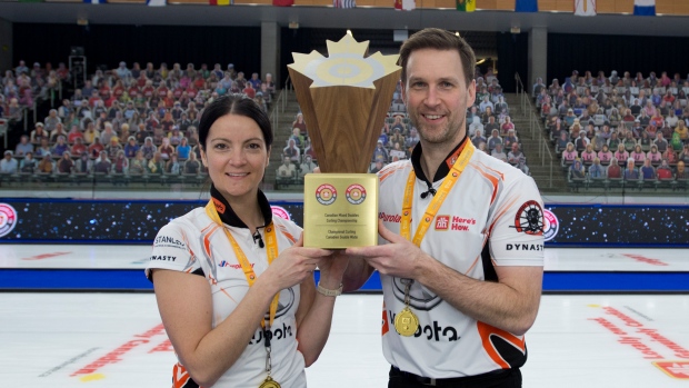
[[[328,40],[328,58],[292,53],[288,66],[322,173],[304,177],[303,246],[378,243],[378,176],[366,173],[401,68],[350,34]]]

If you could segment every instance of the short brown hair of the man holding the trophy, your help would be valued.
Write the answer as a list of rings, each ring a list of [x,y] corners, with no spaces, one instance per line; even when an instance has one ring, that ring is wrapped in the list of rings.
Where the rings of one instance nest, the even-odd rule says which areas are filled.
[[[399,63],[402,67],[402,82],[407,81],[407,62],[409,57],[416,50],[436,49],[436,50],[456,50],[461,60],[465,81],[467,86],[473,79],[473,69],[476,67],[476,54],[473,50],[461,37],[439,28],[427,28],[412,34],[400,48]]]

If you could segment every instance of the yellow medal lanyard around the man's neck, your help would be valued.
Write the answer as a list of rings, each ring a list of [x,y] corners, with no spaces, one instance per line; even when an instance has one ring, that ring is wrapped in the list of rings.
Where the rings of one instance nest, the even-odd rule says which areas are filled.
[[[448,197],[448,193],[450,192],[455,183],[457,183],[459,176],[461,176],[461,173],[465,171],[467,165],[469,165],[469,160],[471,159],[471,156],[473,156],[475,150],[476,148],[473,147],[473,143],[471,141],[467,141],[465,149],[461,151],[459,158],[455,161],[455,165],[452,165],[450,173],[448,173],[448,176],[445,178],[445,181],[442,182],[442,185],[440,185],[440,188],[436,192],[436,196],[433,196],[433,199],[426,208],[426,213],[423,215],[421,222],[419,222],[419,226],[417,227],[417,232],[415,233],[413,240],[411,241],[415,246],[421,246],[421,240],[423,240],[423,236],[426,236],[426,232],[428,231],[428,228],[433,221],[433,218],[436,218],[438,210],[440,210],[440,206]],[[407,240],[409,240],[411,236],[411,203],[413,202],[413,185],[416,183],[416,180],[417,177],[412,169],[409,172],[409,178],[407,178],[405,199],[402,202],[402,219],[400,222],[400,235]]]

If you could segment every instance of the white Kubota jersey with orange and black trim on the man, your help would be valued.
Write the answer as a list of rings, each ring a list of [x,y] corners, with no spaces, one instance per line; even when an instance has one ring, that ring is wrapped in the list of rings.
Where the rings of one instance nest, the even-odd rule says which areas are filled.
[[[447,165],[451,166],[457,159],[459,149],[450,155]],[[419,155],[416,155],[417,165]],[[405,186],[412,170],[412,161],[405,160],[391,163],[378,173],[379,218],[396,233],[400,232]],[[432,188],[437,190],[443,180],[435,181]],[[431,195],[421,196],[429,191],[428,185],[417,173],[411,236],[433,198]],[[379,241],[386,242],[383,239]],[[421,241],[421,250],[460,273],[487,281],[497,281],[493,266],[542,266],[542,200],[533,180],[508,163],[476,150]],[[401,370],[432,378],[452,378],[520,367],[526,361],[523,336],[465,316],[412,280],[405,281],[412,281],[410,308],[419,318],[419,329],[413,336],[400,336],[392,324],[405,307],[406,283],[400,278],[385,275],[381,275],[381,281],[383,354]]]

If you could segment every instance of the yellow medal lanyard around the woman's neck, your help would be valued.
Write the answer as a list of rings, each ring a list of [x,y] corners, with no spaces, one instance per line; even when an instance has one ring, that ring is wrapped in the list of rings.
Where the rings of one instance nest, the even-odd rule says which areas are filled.
[[[232,250],[234,250],[234,256],[237,256],[237,260],[241,265],[241,269],[244,271],[244,276],[247,277],[247,282],[249,283],[249,287],[253,286],[253,282],[256,281],[256,272],[253,272],[253,267],[251,267],[249,259],[247,259],[247,256],[239,247],[239,243],[237,243],[237,240],[234,240],[232,235],[222,225],[222,221],[220,220],[220,216],[218,215],[218,210],[216,209],[216,205],[213,203],[212,199],[208,201],[208,205],[206,205],[206,213],[208,215],[208,217],[210,217],[211,220],[213,220],[213,222],[218,223],[222,228],[222,231],[224,231],[224,236],[227,236],[228,240],[230,241]],[[278,257],[278,238],[276,237],[276,228],[272,222],[270,222],[270,225],[266,227],[266,252],[268,253],[268,265],[270,266],[270,263],[272,263],[272,260]],[[276,296],[272,298],[272,301],[270,302],[270,320],[268,322],[268,327],[272,327],[272,322],[276,319],[279,299],[280,292],[276,294]],[[266,329],[264,319],[261,320],[261,327]]]

